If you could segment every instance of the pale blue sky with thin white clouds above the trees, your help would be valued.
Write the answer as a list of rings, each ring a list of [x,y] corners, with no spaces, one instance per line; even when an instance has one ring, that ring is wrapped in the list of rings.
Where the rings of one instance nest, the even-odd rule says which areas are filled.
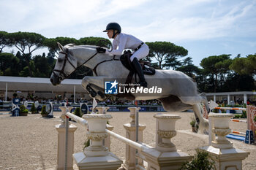
[[[184,47],[200,66],[211,55],[256,53],[255,9],[256,0],[0,0],[0,31],[107,39],[102,31],[117,22],[143,42]]]

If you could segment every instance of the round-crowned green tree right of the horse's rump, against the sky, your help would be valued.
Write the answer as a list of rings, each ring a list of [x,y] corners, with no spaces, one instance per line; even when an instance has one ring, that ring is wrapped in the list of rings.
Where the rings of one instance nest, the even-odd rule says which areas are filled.
[[[217,91],[218,78],[223,82],[225,79],[225,74],[229,72],[229,66],[232,63],[230,55],[214,55],[209,56],[208,58],[203,58],[200,63],[200,66],[205,69],[206,73],[214,77],[214,92]]]

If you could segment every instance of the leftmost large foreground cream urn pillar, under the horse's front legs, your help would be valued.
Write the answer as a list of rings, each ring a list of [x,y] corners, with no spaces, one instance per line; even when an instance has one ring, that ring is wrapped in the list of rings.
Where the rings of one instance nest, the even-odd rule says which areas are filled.
[[[79,169],[108,169],[116,170],[121,166],[122,161],[108,151],[108,148],[103,146],[102,140],[108,134],[105,131],[107,121],[112,118],[111,115],[83,115],[87,120],[89,132],[88,137],[91,140],[89,147],[86,147],[83,152],[74,154],[75,162]]]

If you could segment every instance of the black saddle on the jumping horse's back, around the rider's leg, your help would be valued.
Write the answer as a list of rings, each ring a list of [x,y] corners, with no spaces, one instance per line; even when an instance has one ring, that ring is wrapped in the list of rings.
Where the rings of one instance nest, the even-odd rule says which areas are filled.
[[[124,54],[121,55],[120,61],[121,63],[129,70],[129,72],[135,73],[135,69],[133,69],[132,63],[129,58],[131,58],[132,53],[130,50],[125,50]],[[140,61],[140,66],[142,67],[143,74],[146,75],[154,75],[156,73],[156,70],[150,66],[150,62],[148,61]]]

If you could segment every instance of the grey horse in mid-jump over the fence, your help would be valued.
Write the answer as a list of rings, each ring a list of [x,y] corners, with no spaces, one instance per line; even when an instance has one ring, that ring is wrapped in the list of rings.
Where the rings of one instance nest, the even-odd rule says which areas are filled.
[[[97,53],[97,46],[65,45],[63,47],[59,43],[58,45],[61,51],[50,76],[53,85],[59,85],[81,65],[94,70],[93,77],[83,77],[82,86],[91,97],[100,101],[106,98],[104,93],[106,80],[125,83],[129,70],[121,64],[120,56]],[[145,78],[148,87],[157,88],[161,93],[132,93],[132,95],[124,93],[120,97],[135,100],[157,99],[168,112],[193,109],[199,124],[198,132],[203,134],[208,131],[208,120],[203,117],[201,105],[203,103],[208,107],[208,102],[205,95],[197,92],[197,86],[190,77],[178,71],[157,69],[154,75],[145,75]],[[135,81],[134,77],[132,81]]]

